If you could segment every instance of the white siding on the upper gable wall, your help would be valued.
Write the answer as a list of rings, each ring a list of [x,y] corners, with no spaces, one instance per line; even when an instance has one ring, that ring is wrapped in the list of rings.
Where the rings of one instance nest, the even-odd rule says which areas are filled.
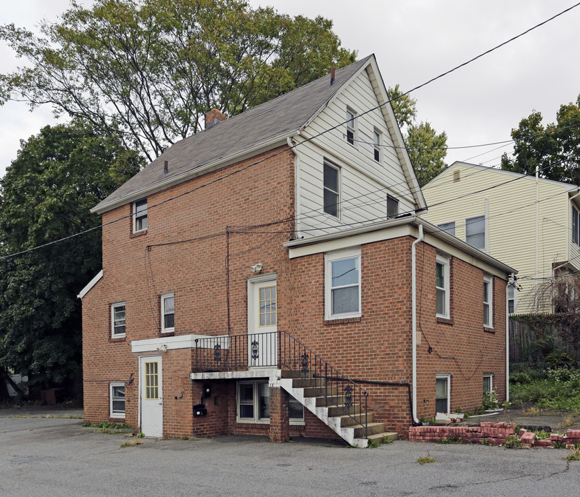
[[[313,119],[298,141],[344,122],[346,108],[360,110],[377,105],[369,76],[363,71]],[[359,116],[356,121],[356,135],[361,141],[355,143],[356,147],[347,143],[343,127],[297,148],[300,164],[297,229],[300,236],[322,235],[360,226],[359,223],[363,222],[386,220],[386,195],[398,199],[400,213],[416,208],[383,112],[376,109]],[[374,159],[371,151],[375,130],[380,132],[380,162]],[[321,164],[325,159],[340,168],[340,219],[326,215],[322,208],[324,178]]]

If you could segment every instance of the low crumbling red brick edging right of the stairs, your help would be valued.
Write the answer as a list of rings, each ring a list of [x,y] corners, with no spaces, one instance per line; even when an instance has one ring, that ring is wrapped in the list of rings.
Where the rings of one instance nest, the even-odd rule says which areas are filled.
[[[481,443],[483,438],[490,445],[501,445],[508,436],[515,433],[516,425],[507,422],[482,422],[478,426],[425,426],[409,428],[409,440],[416,442],[438,442],[448,437],[456,437],[463,442]]]

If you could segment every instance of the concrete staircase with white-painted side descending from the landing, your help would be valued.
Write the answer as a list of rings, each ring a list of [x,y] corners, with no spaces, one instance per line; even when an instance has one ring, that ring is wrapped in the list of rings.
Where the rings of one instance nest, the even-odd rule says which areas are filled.
[[[311,371],[305,374],[282,369],[280,386],[349,445],[367,447],[372,440],[382,443],[387,439],[398,438],[398,433],[385,431],[385,423],[373,422],[373,414],[370,412],[366,416],[368,435],[365,438],[365,413],[360,411],[360,405],[347,409],[338,388],[326,387],[326,380],[315,380]]]

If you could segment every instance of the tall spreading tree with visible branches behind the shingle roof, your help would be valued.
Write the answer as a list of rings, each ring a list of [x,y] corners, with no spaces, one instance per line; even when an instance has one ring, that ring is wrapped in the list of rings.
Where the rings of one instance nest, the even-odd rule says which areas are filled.
[[[0,102],[50,104],[106,135],[122,131],[153,160],[202,130],[213,107],[227,115],[345,66],[332,22],[289,17],[241,0],[96,0],[72,3],[41,37],[13,24],[5,40],[30,68],[0,75]]]

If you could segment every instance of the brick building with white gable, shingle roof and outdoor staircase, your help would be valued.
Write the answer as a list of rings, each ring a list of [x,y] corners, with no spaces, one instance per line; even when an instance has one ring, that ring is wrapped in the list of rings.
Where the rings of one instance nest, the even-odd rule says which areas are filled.
[[[505,398],[514,270],[424,208],[374,56],[212,110],[93,209],[86,420],[366,445]]]

